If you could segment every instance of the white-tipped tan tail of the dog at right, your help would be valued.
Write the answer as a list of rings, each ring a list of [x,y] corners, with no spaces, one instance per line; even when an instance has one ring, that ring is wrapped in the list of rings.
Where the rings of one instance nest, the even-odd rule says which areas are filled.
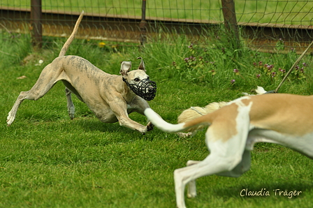
[[[154,112],[154,110],[152,110],[151,108],[147,108],[144,113],[147,119],[151,121],[154,126],[157,126],[157,128],[168,133],[184,131],[184,130],[187,130],[188,128],[199,126],[199,125],[209,126],[212,122],[210,114],[206,114],[202,117],[198,117],[196,119],[193,119],[191,121],[187,121],[184,123],[170,124],[164,121],[159,116],[159,114]]]

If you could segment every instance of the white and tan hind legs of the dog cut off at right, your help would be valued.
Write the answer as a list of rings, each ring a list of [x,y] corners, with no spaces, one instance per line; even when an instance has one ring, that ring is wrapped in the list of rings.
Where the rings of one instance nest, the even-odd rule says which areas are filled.
[[[189,166],[174,171],[177,207],[184,208],[184,187],[191,182],[191,196],[196,195],[194,180],[211,174],[238,177],[249,169],[250,154],[245,151],[249,126],[250,105],[228,105],[226,112],[235,111],[235,117],[224,119],[224,114],[214,117],[205,133],[210,155],[203,161],[190,161]],[[214,115],[213,115],[214,116]],[[205,116],[208,117],[208,116]],[[194,165],[192,165],[194,163]],[[240,165],[238,165],[240,164]]]

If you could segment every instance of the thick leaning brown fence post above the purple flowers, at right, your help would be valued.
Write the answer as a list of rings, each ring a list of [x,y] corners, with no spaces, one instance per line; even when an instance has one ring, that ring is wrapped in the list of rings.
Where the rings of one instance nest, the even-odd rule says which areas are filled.
[[[235,35],[236,43],[239,46],[240,40],[237,18],[235,13],[235,3],[233,0],[221,0],[221,6],[226,30],[230,32],[230,34]]]

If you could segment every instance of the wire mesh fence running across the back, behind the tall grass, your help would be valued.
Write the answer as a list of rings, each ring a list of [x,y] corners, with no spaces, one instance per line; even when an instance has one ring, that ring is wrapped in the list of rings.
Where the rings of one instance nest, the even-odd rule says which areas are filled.
[[[143,44],[160,33],[199,40],[224,24],[238,29],[247,47],[266,52],[284,43],[300,53],[313,40],[313,0],[1,0],[0,29],[67,37],[82,10],[78,38],[101,41]]]

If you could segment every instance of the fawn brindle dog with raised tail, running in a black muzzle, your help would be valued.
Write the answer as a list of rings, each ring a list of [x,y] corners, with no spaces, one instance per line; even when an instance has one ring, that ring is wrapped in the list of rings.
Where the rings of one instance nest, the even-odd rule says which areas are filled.
[[[66,86],[66,98],[68,114],[71,119],[74,117],[75,108],[71,99],[71,93],[75,94],[80,101],[86,103],[96,117],[104,123],[114,123],[119,121],[121,126],[126,126],[133,130],[145,134],[152,130],[153,125],[149,122],[147,126],[138,124],[129,118],[131,112],[144,114],[144,110],[149,107],[147,101],[137,96],[128,86],[140,89],[143,80],[149,81],[149,76],[145,73],[145,64],[141,59],[138,70],[131,69],[131,61],[123,61],[121,64],[120,75],[110,75],[96,68],[86,59],[78,56],[65,56],[68,46],[71,44],[78,31],[83,13],[75,24],[73,33],[59,53],[59,57],[54,59],[51,64],[43,68],[36,84],[29,91],[22,91],[17,97],[12,110],[8,113],[7,124],[10,126],[15,119],[18,107],[28,99],[36,101],[43,97],[56,82],[61,80]],[[152,82],[152,81],[149,81]],[[154,90],[155,87],[148,87]],[[144,89],[150,91],[150,88]],[[154,98],[150,96],[150,100]]]

